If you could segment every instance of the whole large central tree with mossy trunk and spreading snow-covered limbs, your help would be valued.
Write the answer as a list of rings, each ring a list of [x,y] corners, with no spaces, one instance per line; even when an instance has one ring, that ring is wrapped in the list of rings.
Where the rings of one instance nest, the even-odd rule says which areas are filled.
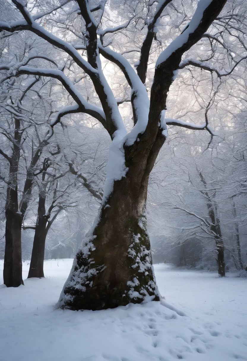
[[[56,8],[39,13],[37,8],[32,8],[33,5],[27,6],[21,0],[12,2],[23,19],[1,22],[0,28],[10,33],[34,32],[59,49],[63,56],[69,56],[81,69],[81,78],[84,73],[90,78],[95,97],[97,96],[95,102],[100,104],[97,106],[84,99],[82,92],[78,91],[76,79],[69,79],[70,74],[64,71],[64,66],[58,69],[17,67],[15,75],[33,74],[56,78],[75,101],[75,104],[57,113],[51,122],[51,132],[62,116],[87,113],[103,125],[112,139],[99,214],[75,257],[61,293],[59,306],[74,310],[96,310],[130,302],[159,300],[146,226],[149,174],[167,137],[167,125],[207,130],[212,135],[208,125],[208,108],[205,109],[205,122],[201,125],[165,118],[168,92],[178,75],[178,69],[193,66],[215,73],[221,78],[229,75],[239,62],[246,58],[231,58],[229,71],[219,70],[209,63],[215,56],[213,42],[220,43],[222,49],[228,52],[225,42],[218,39],[218,31],[224,32],[226,23],[229,26],[231,21],[235,21],[236,9],[227,9],[230,14],[226,12],[218,17],[226,0],[200,0],[198,4],[188,1],[182,11],[181,5],[175,1],[173,4],[171,0],[152,3],[110,1],[109,4],[104,0],[78,0],[65,1]],[[59,12],[61,7],[63,12]],[[47,19],[47,15],[52,17],[55,10],[58,10],[58,16],[55,12],[52,21],[56,25],[50,26],[43,19]],[[177,36],[173,34],[174,40],[171,42],[170,32],[166,28],[169,27],[169,21],[173,23],[176,16],[182,19],[180,24],[173,28],[176,29],[174,34]],[[120,21],[120,24],[114,26],[114,21],[121,18],[126,22],[122,24]],[[187,24],[184,23],[185,20]],[[213,30],[216,29],[216,34],[211,34],[209,27],[215,20],[217,24]],[[184,28],[181,29],[181,26]],[[49,27],[50,32],[47,30]],[[158,39],[157,32],[160,29],[161,38]],[[182,30],[180,35],[179,30]],[[198,60],[196,54],[195,59],[187,58],[181,62],[183,55],[202,38],[205,38],[205,42],[199,45],[196,52],[200,53],[201,48],[208,47],[207,59],[199,57]],[[122,54],[117,51],[114,39],[122,44],[127,43]],[[149,62],[152,64],[154,54],[157,54],[154,41],[158,41],[161,48],[164,44],[169,45],[157,57],[152,74],[148,65]],[[140,53],[135,64],[136,71],[132,61],[127,61],[123,56],[123,53],[132,52]],[[131,88],[130,99],[119,101],[114,96],[114,82],[109,82],[105,77],[100,55],[121,69]],[[148,77],[153,78],[150,89],[147,86],[147,72]],[[131,101],[133,110],[134,124],[129,132],[118,108],[124,100]]]

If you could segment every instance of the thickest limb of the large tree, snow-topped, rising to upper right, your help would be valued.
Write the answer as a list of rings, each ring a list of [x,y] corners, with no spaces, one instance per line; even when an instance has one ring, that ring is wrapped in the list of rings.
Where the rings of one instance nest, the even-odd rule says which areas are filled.
[[[207,31],[209,25],[211,25],[220,13],[225,2],[226,0],[200,0],[185,30],[175,38],[157,58],[150,95],[150,107],[153,111],[152,113],[149,112],[146,130],[148,134],[153,134],[157,131],[157,126],[159,126],[160,123],[160,115],[162,110],[166,109],[166,99],[170,85],[177,75],[177,69],[179,68],[183,53],[198,42],[205,31]],[[177,121],[177,119],[175,119],[175,122],[173,120],[170,122],[173,125],[198,129],[198,127],[194,125],[186,125],[186,123],[181,123]],[[199,129],[207,129],[212,135],[212,131],[208,128],[207,123]]]

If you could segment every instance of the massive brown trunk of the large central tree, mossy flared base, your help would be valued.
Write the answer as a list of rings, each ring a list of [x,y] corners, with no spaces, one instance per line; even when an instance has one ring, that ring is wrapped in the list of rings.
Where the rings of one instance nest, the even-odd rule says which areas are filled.
[[[146,227],[146,199],[149,173],[164,140],[158,137],[151,151],[143,144],[125,149],[129,170],[114,182],[75,256],[58,307],[100,310],[160,299]]]

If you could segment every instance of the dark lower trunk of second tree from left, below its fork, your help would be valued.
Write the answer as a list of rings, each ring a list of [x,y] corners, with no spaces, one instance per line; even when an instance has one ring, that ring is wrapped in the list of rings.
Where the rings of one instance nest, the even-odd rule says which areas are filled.
[[[46,230],[47,218],[39,219],[36,223],[34,243],[32,246],[32,256],[30,262],[30,268],[27,278],[32,277],[44,277],[44,251],[45,251],[45,239],[47,235]]]

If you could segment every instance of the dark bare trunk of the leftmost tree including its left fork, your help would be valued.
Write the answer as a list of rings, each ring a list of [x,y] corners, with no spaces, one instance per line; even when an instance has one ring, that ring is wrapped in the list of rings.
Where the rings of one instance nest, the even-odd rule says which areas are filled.
[[[20,160],[20,121],[15,120],[13,153],[10,160],[9,182],[5,205],[5,253],[3,279],[7,287],[18,287],[22,280],[21,226],[22,215],[18,211],[17,173]]]

